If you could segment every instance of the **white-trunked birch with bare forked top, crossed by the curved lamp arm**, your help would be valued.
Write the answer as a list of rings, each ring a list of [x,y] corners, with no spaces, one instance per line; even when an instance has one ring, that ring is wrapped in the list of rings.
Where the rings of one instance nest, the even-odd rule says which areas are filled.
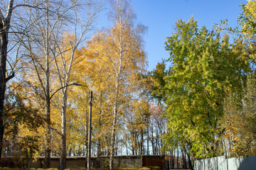
[[[85,4],[84,4],[85,3]],[[85,5],[86,9],[83,11],[84,15],[80,18],[80,7]],[[60,152],[60,169],[65,169],[66,159],[66,112],[68,103],[68,84],[70,84],[70,74],[72,74],[75,60],[81,57],[82,52],[79,51],[79,47],[82,42],[88,38],[88,33],[92,30],[97,14],[100,12],[100,4],[95,1],[73,1],[71,4],[70,13],[74,17],[74,24],[70,26],[73,35],[66,33],[62,40],[62,43],[55,44],[55,51],[53,55],[55,61],[55,69],[58,77],[58,84],[62,92],[61,98],[61,152]],[[56,55],[55,52],[58,54]]]

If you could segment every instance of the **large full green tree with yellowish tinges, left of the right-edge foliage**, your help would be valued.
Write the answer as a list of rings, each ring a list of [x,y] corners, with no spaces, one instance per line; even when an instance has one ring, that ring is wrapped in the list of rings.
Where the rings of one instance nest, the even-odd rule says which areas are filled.
[[[228,35],[198,28],[191,18],[176,21],[176,33],[167,38],[172,67],[166,79],[169,128],[176,137],[191,143],[196,157],[219,153],[223,128],[223,101],[230,91],[240,89],[247,64]]]

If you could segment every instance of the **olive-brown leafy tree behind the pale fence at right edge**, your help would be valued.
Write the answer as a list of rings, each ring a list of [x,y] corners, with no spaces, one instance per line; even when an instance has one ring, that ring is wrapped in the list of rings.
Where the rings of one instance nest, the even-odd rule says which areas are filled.
[[[243,90],[235,91],[225,99],[224,152],[230,157],[255,154],[255,88],[255,73],[250,73]]]

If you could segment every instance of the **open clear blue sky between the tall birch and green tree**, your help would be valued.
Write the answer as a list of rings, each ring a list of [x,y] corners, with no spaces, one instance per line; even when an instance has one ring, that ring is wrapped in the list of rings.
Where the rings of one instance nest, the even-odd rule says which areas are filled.
[[[132,0],[137,22],[148,27],[144,39],[148,70],[169,57],[164,42],[174,32],[176,20],[188,21],[193,16],[199,26],[204,24],[210,30],[214,23],[227,18],[228,25],[235,27],[242,3],[246,0]]]

